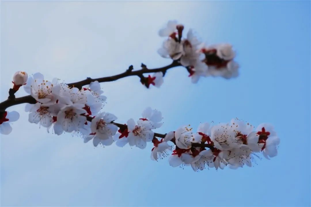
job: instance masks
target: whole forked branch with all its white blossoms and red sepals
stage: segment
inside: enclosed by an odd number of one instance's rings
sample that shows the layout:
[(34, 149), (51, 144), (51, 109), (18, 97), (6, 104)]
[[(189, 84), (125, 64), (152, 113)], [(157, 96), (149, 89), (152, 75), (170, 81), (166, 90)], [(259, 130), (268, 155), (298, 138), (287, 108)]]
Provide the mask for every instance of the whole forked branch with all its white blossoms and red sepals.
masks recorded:
[[(238, 75), (239, 65), (233, 60), (235, 52), (230, 44), (205, 46), (192, 29), (189, 29), (184, 38), (183, 29), (184, 26), (177, 21), (169, 21), (159, 31), (159, 35), (167, 39), (158, 53), (172, 59), (171, 65), (149, 70), (142, 64), (142, 70), (137, 71), (132, 71), (131, 65), (122, 74), (97, 80), (104, 82), (103, 79), (111, 81), (137, 75), (147, 88), (150, 85), (160, 87), (166, 70), (180, 65), (188, 70), (193, 83), (201, 76), (230, 79)], [(155, 73), (143, 76), (144, 73), (151, 72)], [(106, 97), (102, 95), (100, 83), (94, 79), (88, 78), (69, 86), (56, 78), (48, 81), (41, 73), (28, 76), (26, 72), (17, 71), (12, 82), (14, 85), (9, 90), (9, 99), (4, 102), (13, 101), (11, 106), (15, 105), (15, 93), (23, 86), (30, 94), (26, 98), (31, 98), (23, 102), (27, 103), (25, 110), (29, 112), (30, 123), (45, 127), (48, 133), (52, 128), (52, 133), (57, 135), (64, 132), (79, 133), (85, 143), (92, 140), (95, 147), (109, 146), (115, 142), (120, 147), (129, 145), (144, 149), (147, 142), (151, 142), (151, 160), (157, 161), (170, 155), (169, 165), (191, 165), (194, 171), (206, 167), (224, 169), (229, 166), (237, 169), (244, 165), (252, 166), (254, 158), (259, 157), (259, 152), (267, 159), (277, 155), (280, 139), (270, 124), (260, 124), (254, 130), (250, 124), (232, 119), (229, 123), (213, 126), (202, 123), (197, 132), (186, 125), (176, 131), (159, 134), (153, 130), (162, 126), (162, 114), (151, 107), (147, 107), (137, 121), (129, 119), (126, 124), (116, 123), (115, 115), (102, 111)], [(83, 88), (86, 84), (89, 85)], [(4, 110), (2, 108), (0, 111), (1, 134), (11, 133), (10, 123), (19, 118), (18, 112), (5, 111), (7, 107), (4, 104)]]

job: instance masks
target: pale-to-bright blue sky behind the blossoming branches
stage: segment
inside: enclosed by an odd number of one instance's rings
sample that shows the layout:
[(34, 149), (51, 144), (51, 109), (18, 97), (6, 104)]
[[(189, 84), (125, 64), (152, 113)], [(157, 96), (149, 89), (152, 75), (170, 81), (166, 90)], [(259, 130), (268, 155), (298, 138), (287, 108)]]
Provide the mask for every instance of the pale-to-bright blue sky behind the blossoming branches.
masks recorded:
[[(17, 70), (75, 82), (171, 61), (156, 50), (170, 19), (206, 43), (232, 43), (236, 79), (200, 79), (168, 71), (160, 89), (138, 77), (102, 83), (104, 111), (125, 123), (151, 106), (166, 133), (183, 124), (239, 117), (268, 122), (279, 155), (238, 170), (172, 168), (151, 161), (152, 144), (94, 148), (71, 134), (30, 124), (24, 105), (13, 132), (1, 135), (1, 206), (309, 206), (310, 2), (7, 2), (1, 1), (1, 101)], [(20, 90), (17, 97), (26, 93)]]

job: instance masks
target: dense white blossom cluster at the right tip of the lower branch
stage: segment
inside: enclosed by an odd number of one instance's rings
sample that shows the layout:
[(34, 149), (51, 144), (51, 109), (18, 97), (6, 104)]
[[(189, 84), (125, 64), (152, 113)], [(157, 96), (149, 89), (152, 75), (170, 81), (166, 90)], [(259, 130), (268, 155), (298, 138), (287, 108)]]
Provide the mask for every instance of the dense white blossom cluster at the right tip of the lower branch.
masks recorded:
[[(277, 155), (280, 139), (270, 124), (260, 124), (255, 131), (253, 126), (238, 119), (230, 123), (211, 126), (200, 124), (197, 133), (183, 126), (175, 131), (176, 149), (169, 158), (169, 164), (177, 167), (191, 165), (194, 171), (209, 168), (232, 169), (252, 166), (254, 156), (261, 152), (269, 159)], [(206, 149), (209, 148), (209, 149)]]

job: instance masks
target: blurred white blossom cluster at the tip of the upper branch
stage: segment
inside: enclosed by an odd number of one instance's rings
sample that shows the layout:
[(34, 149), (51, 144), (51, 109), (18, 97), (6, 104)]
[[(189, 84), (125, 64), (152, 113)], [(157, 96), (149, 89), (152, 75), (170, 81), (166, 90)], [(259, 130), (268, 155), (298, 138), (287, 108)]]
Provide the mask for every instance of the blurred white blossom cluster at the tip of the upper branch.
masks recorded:
[(183, 38), (182, 24), (171, 20), (160, 29), (159, 35), (166, 37), (158, 53), (165, 58), (179, 61), (189, 72), (193, 83), (207, 76), (221, 76), (226, 79), (238, 76), (239, 65), (233, 61), (235, 52), (230, 44), (205, 46), (192, 29)]

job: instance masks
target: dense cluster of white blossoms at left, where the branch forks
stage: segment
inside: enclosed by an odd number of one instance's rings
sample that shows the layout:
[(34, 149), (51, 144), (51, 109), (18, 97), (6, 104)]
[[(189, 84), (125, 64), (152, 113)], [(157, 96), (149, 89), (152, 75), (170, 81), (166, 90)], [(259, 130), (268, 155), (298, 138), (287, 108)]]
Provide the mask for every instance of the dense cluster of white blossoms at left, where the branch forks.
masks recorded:
[[(45, 80), (42, 74), (36, 73), (28, 78), (24, 89), (37, 101), (36, 104), (26, 104), (25, 110), (30, 112), (29, 122), (39, 123), (40, 126), (46, 127), (48, 132), (53, 127), (57, 135), (63, 132), (79, 132), (90, 140), (89, 135), (96, 134), (96, 126), (93, 122), (88, 123), (87, 117), (96, 116), (95, 121), (105, 118), (109, 119), (109, 122), (116, 119), (114, 115), (98, 114), (106, 100), (98, 81), (91, 82), (88, 88), (79, 90), (59, 83), (58, 79), (50, 82)], [(99, 134), (100, 132), (95, 135), (94, 145), (103, 138)]]

